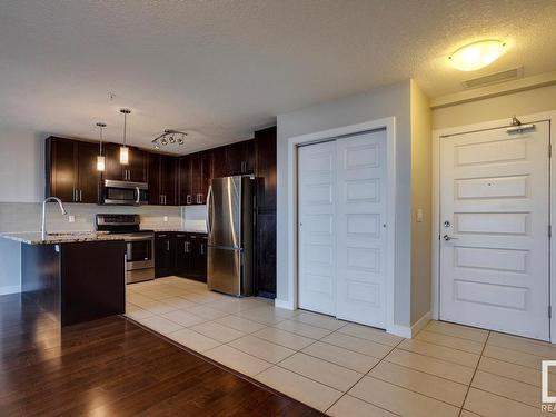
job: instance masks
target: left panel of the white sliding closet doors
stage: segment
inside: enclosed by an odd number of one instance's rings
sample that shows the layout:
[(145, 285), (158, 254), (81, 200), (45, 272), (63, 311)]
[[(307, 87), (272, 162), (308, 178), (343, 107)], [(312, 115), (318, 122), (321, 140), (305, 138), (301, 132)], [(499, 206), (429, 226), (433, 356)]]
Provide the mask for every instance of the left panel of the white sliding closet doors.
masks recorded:
[(298, 149), (299, 307), (336, 314), (336, 143)]

